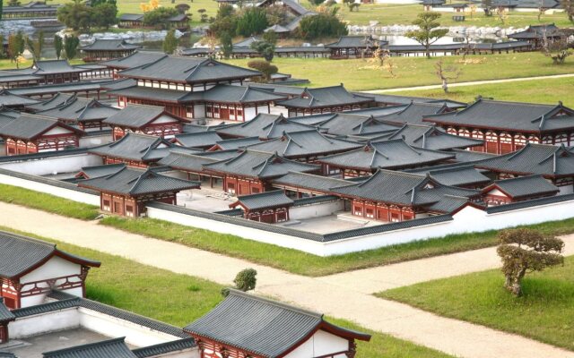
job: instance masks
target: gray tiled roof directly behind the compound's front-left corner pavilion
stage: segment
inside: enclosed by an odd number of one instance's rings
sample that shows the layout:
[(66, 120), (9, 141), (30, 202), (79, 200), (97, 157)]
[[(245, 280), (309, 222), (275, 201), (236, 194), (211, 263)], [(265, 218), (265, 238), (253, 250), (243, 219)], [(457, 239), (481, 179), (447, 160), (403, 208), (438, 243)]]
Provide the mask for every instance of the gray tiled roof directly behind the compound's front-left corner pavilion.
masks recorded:
[[(1, 129), (0, 129), (1, 132)], [(106, 146), (100, 146), (89, 150), (90, 153), (105, 157), (126, 158), (138, 161), (159, 160), (169, 154), (173, 145), (152, 135), (128, 133), (119, 141), (114, 141)]]

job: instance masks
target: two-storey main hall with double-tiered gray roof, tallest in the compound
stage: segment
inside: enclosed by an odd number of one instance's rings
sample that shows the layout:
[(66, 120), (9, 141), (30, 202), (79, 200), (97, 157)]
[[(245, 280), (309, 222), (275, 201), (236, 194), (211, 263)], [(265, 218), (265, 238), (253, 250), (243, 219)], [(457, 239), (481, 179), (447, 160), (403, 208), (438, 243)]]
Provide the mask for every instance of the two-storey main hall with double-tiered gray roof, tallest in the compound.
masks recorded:
[(117, 97), (119, 107), (128, 103), (161, 106), (184, 118), (243, 122), (259, 113), (269, 113), (272, 103), (285, 99), (243, 86), (261, 72), (212, 59), (162, 56), (117, 75), (135, 80), (129, 87), (109, 91)]

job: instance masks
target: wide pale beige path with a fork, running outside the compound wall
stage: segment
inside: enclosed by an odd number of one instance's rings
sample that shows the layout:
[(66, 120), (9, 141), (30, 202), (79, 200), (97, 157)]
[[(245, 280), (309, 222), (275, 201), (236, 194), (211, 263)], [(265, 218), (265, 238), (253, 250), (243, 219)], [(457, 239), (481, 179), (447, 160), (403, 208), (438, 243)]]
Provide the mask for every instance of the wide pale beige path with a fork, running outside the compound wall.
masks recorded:
[[(365, 275), (364, 279), (373, 284), (369, 289), (364, 285), (357, 286), (357, 280), (352, 279), (356, 273), (321, 278), (301, 277), (244, 260), (188, 248), (178, 243), (128, 234), (111, 227), (99, 226), (96, 222), (86, 223), (12, 204), (0, 203), (0, 213), (0, 226), (117, 254), (157, 268), (204, 277), (223, 285), (229, 285), (240, 269), (256, 268), (258, 294), (271, 295), (309, 310), (352, 320), (363, 327), (402, 337), (448, 354), (468, 358), (574, 358), (574, 353), (552, 345), (459, 320), (442, 318), (402, 303), (381, 300), (370, 295), (370, 291), (378, 291), (379, 288), (388, 286), (385, 280), (378, 280), (381, 275), (392, 277), (388, 280), (391, 282), (390, 286), (399, 286), (399, 282), (408, 285), (428, 278), (452, 276), (469, 269), (495, 267), (495, 260), (486, 259), (491, 249), (361, 270)], [(574, 241), (569, 238), (568, 243), (570, 250)], [(467, 260), (473, 261), (472, 268), (466, 268)], [(103, 264), (105, 265), (105, 262)], [(404, 281), (400, 281), (402, 273), (408, 275)], [(361, 276), (361, 281), (362, 279)]]

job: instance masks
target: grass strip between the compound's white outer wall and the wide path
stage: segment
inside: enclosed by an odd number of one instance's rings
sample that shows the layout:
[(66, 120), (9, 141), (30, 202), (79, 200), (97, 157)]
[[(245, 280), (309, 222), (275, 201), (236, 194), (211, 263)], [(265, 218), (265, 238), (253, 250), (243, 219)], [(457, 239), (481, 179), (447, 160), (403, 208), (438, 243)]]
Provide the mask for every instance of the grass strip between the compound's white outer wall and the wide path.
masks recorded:
[[(13, 202), (67, 217), (90, 219), (97, 215), (94, 207), (48, 194), (31, 192), (9, 185), (0, 186), (0, 201)], [(39, 200), (41, 198), (41, 200)], [(231, 234), (217, 234), (196, 227), (181, 226), (151, 218), (129, 219), (105, 217), (100, 225), (112, 226), (134, 234), (181, 243), (204, 251), (221, 253), (261, 265), (280, 268), (310, 277), (325, 276), (359, 268), (371, 268), (405, 260), (416, 260), (446, 253), (468, 251), (492, 246), (496, 232), (453, 234), (442, 238), (387, 246), (329, 257), (318, 257), (303, 251), (259, 243)], [(574, 233), (574, 218), (552, 221), (534, 227), (547, 234)]]

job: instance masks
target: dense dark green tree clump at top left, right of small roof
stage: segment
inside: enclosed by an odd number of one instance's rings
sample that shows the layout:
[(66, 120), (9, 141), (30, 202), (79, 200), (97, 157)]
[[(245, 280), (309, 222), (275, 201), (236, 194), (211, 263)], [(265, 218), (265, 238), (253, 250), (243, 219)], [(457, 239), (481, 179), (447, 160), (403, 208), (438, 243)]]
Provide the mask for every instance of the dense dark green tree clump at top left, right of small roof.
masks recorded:
[(90, 5), (74, 0), (57, 10), (57, 20), (74, 31), (109, 29), (117, 22), (116, 0), (92, 0)]

